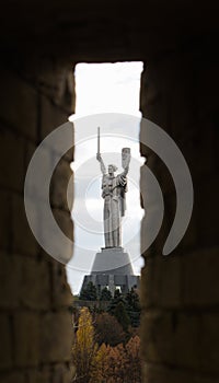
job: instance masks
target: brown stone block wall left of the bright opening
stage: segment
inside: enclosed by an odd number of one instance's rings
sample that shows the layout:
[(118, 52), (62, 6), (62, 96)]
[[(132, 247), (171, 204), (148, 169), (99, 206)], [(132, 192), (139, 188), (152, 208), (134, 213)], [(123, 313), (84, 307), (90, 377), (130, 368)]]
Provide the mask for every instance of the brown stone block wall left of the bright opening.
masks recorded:
[[(65, 267), (43, 252), (28, 228), (23, 186), (37, 144), (73, 112), (72, 71), (54, 62), (35, 67), (26, 62), (22, 70), (1, 63), (0, 381), (4, 383), (70, 381), (72, 297)], [(48, 161), (50, 155), (48, 150)], [(73, 229), (64, 195), (72, 155), (69, 152), (60, 161), (51, 194), (55, 214), (68, 223), (69, 232)], [(64, 255), (69, 257), (71, 251), (64, 248)]]

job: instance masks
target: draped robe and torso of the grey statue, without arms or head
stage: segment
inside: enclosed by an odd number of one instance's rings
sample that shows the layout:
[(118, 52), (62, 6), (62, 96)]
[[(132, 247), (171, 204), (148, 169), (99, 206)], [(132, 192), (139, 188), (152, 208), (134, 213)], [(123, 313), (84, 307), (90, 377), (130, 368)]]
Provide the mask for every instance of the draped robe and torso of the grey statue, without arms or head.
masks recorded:
[(120, 218), (125, 214), (125, 193), (127, 192), (127, 179), (124, 173), (117, 176), (103, 175), (105, 247), (118, 247), (122, 244)]

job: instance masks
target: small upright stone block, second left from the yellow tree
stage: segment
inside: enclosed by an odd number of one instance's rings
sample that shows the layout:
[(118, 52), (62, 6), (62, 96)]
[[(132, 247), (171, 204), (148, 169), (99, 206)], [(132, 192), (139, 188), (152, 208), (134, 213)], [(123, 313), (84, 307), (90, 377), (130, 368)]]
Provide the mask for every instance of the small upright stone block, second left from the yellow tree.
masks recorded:
[(15, 365), (34, 367), (39, 362), (39, 321), (36, 313), (14, 314), (14, 355)]

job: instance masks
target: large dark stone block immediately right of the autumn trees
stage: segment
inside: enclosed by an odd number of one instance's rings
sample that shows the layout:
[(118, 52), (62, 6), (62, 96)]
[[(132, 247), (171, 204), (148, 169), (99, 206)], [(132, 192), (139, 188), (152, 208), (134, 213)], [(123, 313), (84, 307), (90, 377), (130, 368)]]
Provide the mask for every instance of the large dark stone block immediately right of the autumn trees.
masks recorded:
[(141, 353), (149, 362), (178, 368), (200, 367), (198, 315), (159, 312), (141, 317)]

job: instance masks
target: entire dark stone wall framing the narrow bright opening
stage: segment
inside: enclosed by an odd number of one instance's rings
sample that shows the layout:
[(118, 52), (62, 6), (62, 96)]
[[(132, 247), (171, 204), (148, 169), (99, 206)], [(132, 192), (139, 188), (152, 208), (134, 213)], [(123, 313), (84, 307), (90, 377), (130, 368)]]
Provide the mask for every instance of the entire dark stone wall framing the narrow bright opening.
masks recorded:
[[(10, 1), (2, 10), (2, 382), (70, 381), (71, 294), (64, 267), (47, 257), (31, 234), (23, 182), (37, 144), (73, 112), (71, 62), (80, 60), (145, 61), (143, 116), (173, 137), (194, 182), (191, 225), (164, 260), (160, 254), (174, 214), (174, 188), (159, 159), (141, 148), (162, 185), (166, 208), (142, 270), (143, 382), (218, 381), (217, 14), (216, 2), (187, 1)], [(55, 214), (69, 233), (72, 223), (62, 196), (71, 160), (72, 154), (62, 159), (53, 193)], [(142, 175), (142, 194), (145, 182)]]

